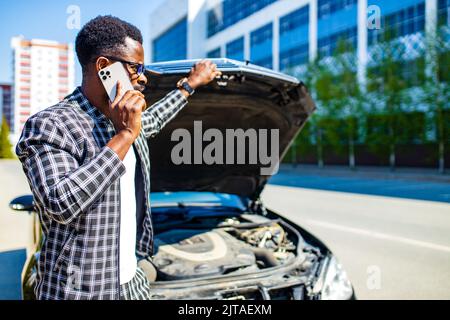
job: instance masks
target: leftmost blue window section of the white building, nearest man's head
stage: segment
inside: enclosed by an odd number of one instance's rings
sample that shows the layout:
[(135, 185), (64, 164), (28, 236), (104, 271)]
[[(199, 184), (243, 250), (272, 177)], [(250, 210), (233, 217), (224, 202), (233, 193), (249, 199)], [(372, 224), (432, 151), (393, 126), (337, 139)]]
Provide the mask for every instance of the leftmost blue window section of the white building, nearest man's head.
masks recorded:
[(153, 41), (153, 61), (186, 59), (187, 19), (183, 18)]

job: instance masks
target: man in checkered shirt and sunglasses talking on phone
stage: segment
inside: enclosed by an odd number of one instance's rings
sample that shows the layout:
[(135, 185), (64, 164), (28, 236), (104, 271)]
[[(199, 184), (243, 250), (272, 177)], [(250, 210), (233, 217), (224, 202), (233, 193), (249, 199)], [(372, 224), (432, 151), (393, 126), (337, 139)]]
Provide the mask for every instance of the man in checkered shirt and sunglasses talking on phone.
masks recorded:
[[(142, 35), (112, 16), (76, 38), (81, 87), (32, 116), (16, 148), (44, 233), (38, 299), (147, 299), (138, 261), (153, 254), (147, 139), (220, 75), (202, 60), (174, 90), (146, 108)], [(99, 70), (121, 62), (135, 90), (110, 102)], [(183, 82), (185, 82), (183, 84)], [(177, 87), (178, 86), (178, 87)]]

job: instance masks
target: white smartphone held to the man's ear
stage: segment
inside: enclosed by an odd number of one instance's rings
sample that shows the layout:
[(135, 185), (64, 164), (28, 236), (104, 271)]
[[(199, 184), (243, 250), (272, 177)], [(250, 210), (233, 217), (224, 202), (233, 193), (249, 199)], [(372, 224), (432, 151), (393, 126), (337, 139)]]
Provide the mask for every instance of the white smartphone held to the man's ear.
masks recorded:
[(122, 94), (125, 94), (128, 90), (134, 90), (128, 76), (128, 71), (121, 62), (115, 62), (98, 72), (98, 76), (105, 87), (106, 93), (109, 96), (109, 100), (114, 101), (117, 95), (117, 82), (120, 81), (122, 85)]

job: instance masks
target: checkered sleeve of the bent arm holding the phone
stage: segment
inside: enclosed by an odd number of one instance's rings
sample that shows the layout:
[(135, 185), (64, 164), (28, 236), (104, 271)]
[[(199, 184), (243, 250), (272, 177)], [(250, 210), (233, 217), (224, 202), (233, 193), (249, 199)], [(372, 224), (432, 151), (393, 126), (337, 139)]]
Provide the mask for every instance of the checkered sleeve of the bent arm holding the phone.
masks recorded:
[(61, 224), (85, 212), (125, 173), (122, 161), (108, 146), (79, 166), (80, 149), (67, 132), (54, 117), (33, 117), (17, 145), (34, 196), (49, 218)]

